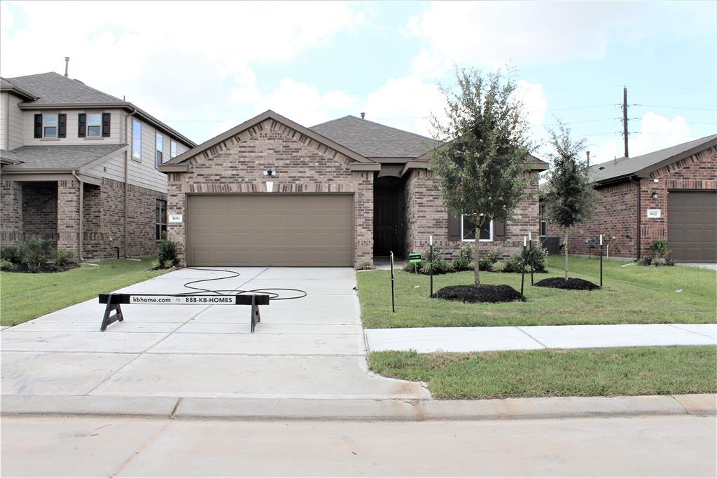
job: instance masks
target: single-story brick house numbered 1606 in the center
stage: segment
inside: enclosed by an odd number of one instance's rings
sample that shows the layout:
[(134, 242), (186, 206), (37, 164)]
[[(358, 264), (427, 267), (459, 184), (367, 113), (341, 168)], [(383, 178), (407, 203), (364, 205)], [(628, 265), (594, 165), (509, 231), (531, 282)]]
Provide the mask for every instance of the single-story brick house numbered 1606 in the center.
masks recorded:
[[(170, 237), (189, 266), (353, 266), (475, 240), (450, 215), (428, 169), (434, 142), (346, 116), (312, 128), (266, 111), (186, 151), (168, 174)], [(508, 254), (538, 234), (538, 172), (513, 220), (480, 232)]]

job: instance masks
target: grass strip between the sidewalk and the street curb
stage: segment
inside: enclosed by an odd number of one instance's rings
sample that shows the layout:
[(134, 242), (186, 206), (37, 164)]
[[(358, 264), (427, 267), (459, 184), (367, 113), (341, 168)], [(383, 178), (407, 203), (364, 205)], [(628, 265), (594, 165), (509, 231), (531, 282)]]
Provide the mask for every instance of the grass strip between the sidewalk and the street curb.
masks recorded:
[(717, 347), (444, 353), (371, 352), (369, 367), (428, 383), (434, 398), (717, 392)]

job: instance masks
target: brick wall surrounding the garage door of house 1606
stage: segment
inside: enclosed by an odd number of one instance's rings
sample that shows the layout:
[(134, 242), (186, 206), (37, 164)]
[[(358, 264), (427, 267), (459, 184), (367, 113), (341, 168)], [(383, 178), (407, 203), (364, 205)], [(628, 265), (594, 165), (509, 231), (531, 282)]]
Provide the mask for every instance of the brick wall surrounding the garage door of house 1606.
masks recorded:
[[(374, 247), (374, 174), (351, 172), (338, 151), (267, 119), (194, 156), (189, 172), (169, 173), (168, 213), (186, 218), (186, 194), (266, 192), (262, 172), (274, 169), (274, 192), (353, 192), (356, 263), (371, 261)], [(186, 219), (185, 219), (186, 220)], [(185, 222), (168, 224), (184, 261)]]

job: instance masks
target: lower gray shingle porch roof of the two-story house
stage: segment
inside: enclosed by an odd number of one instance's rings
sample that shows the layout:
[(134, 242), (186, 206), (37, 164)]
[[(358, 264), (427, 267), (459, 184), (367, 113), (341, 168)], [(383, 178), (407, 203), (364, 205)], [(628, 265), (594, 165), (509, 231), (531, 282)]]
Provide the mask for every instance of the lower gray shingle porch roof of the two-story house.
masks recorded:
[(77, 169), (124, 147), (124, 144), (21, 146), (12, 151), (3, 149), (0, 156), (11, 161), (22, 161), (22, 164), (16, 164), (13, 168)]

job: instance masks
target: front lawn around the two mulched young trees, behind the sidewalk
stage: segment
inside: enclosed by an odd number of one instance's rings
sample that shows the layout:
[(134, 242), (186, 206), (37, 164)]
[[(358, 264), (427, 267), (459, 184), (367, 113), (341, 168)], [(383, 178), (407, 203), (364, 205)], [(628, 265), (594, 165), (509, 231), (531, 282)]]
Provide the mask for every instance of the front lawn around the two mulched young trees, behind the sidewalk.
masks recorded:
[[(549, 273), (562, 276), (560, 256), (548, 258)], [(361, 318), (366, 328), (461, 327), (490, 325), (713, 323), (717, 321), (717, 274), (692, 267), (621, 267), (604, 261), (602, 291), (565, 291), (530, 285), (526, 302), (464, 304), (429, 299), (429, 278), (396, 271), (396, 314), (391, 314), (389, 271), (357, 274)], [(599, 283), (596, 258), (571, 257), (569, 276)], [(481, 281), (521, 290), (518, 273), (480, 273)], [(473, 272), (434, 277), (434, 291), (443, 286), (473, 283)], [(680, 292), (678, 292), (678, 290)]]

